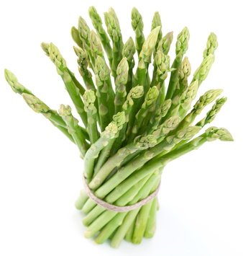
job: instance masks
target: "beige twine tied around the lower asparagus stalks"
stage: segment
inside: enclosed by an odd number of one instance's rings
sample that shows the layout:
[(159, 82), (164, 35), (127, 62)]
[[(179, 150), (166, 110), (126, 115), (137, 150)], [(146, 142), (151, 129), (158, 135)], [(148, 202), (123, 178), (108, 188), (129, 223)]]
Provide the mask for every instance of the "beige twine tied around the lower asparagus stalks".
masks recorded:
[(146, 203), (150, 202), (150, 200), (154, 199), (160, 190), (160, 184), (159, 184), (154, 193), (150, 194), (147, 198), (140, 200), (138, 203), (134, 203), (132, 206), (114, 206), (111, 203), (107, 203), (104, 200), (101, 200), (101, 198), (97, 198), (96, 195), (93, 194), (92, 190), (88, 187), (86, 178), (84, 176), (83, 176), (83, 185), (88, 197), (91, 198), (91, 200), (93, 200), (99, 206), (106, 208), (106, 210), (116, 211), (117, 213), (122, 213), (124, 211), (132, 211), (141, 206), (144, 206)]

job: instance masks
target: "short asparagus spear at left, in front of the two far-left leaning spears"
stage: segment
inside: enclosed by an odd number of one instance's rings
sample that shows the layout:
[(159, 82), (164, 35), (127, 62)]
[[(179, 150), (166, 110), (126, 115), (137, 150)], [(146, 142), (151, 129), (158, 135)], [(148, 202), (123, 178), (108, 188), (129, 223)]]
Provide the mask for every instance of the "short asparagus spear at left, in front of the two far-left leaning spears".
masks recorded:
[(60, 109), (58, 110), (59, 115), (63, 118), (63, 121), (67, 125), (68, 133), (70, 133), (70, 135), (73, 137), (75, 144), (78, 146), (78, 149), (81, 152), (81, 158), (83, 159), (89, 145), (87, 144), (81, 128), (78, 125), (78, 120), (73, 117), (71, 111), (72, 110), (68, 105), (60, 105)]

